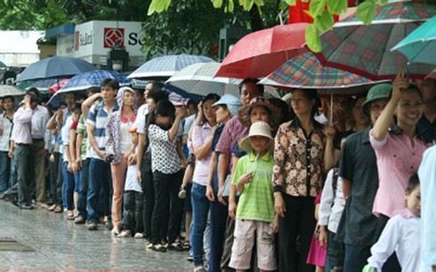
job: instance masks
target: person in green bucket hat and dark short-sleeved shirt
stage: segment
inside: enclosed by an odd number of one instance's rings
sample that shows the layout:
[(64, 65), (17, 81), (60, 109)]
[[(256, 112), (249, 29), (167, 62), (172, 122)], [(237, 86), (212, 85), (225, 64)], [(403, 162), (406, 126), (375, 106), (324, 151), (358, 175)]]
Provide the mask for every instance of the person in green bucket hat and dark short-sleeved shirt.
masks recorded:
[[(372, 125), (388, 103), (391, 91), (391, 84), (376, 84), (367, 92), (362, 110), (370, 117)], [(338, 174), (342, 180), (345, 207), (335, 240), (344, 244), (343, 271), (361, 271), (376, 241), (377, 218), (372, 209), (378, 188), (378, 170), (375, 151), (369, 142), (370, 129), (351, 134), (341, 149)]]

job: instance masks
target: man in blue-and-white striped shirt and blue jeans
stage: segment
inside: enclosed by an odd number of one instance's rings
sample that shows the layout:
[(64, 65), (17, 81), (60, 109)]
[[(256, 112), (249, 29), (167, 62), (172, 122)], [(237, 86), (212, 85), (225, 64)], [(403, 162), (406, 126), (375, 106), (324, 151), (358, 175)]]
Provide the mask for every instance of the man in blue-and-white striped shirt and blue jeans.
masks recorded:
[[(106, 157), (106, 124), (108, 123), (109, 113), (119, 109), (115, 97), (119, 89), (117, 80), (105, 78), (101, 82), (102, 101), (99, 105), (93, 105), (95, 97), (85, 100), (85, 108), (89, 109), (86, 124), (88, 125), (88, 140), (93, 148), (91, 151), (91, 162), (89, 164), (89, 189), (88, 189), (88, 225), (89, 230), (98, 228), (97, 223), (101, 217), (105, 217), (105, 228), (109, 228), (110, 214), (110, 188), (112, 185), (112, 176), (110, 174), (110, 165), (104, 161)], [(84, 108), (84, 107), (83, 107)], [(101, 195), (102, 191), (102, 195)], [(102, 201), (100, 197), (103, 197)], [(99, 203), (102, 202), (102, 211)]]

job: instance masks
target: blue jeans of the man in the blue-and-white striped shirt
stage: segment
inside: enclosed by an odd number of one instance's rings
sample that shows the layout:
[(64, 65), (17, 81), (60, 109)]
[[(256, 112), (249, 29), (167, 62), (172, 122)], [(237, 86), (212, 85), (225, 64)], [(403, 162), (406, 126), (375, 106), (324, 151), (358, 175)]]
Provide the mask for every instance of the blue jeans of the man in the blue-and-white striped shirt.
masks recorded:
[(96, 222), (101, 216), (109, 216), (110, 199), (112, 198), (110, 196), (111, 185), (110, 165), (103, 160), (91, 158), (89, 163), (88, 220)]

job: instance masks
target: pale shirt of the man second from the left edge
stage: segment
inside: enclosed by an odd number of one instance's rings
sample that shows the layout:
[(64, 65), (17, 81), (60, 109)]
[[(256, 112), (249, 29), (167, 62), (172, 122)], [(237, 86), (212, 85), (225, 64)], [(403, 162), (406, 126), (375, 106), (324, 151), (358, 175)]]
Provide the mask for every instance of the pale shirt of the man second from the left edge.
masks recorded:
[(32, 116), (30, 108), (20, 107), (13, 116), (13, 128), (11, 139), (17, 144), (32, 143)]

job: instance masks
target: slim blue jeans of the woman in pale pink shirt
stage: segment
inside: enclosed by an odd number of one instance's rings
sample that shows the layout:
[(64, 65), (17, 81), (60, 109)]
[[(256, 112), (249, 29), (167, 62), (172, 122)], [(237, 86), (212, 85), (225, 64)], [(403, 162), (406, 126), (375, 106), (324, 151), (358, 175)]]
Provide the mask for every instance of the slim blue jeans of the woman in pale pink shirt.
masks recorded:
[(194, 265), (203, 265), (203, 236), (209, 213), (209, 200), (206, 197), (206, 186), (199, 185), (194, 181), (190, 191), (192, 199), (192, 229), (190, 232), (190, 244), (194, 255)]

